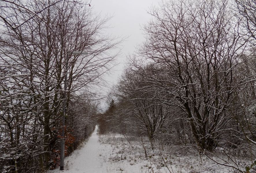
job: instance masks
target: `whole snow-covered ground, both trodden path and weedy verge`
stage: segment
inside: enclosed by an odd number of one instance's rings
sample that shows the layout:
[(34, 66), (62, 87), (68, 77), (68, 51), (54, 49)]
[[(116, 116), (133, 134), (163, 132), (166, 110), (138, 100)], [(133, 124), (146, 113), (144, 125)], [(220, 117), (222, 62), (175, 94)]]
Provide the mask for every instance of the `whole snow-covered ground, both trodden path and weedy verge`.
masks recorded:
[[(172, 148), (165, 152), (151, 150), (149, 142), (138, 138), (114, 135), (98, 135), (96, 126), (88, 142), (65, 158), (65, 170), (58, 173), (229, 173), (233, 168), (217, 165), (206, 156), (191, 153), (187, 148)], [(159, 148), (161, 148), (159, 146)]]

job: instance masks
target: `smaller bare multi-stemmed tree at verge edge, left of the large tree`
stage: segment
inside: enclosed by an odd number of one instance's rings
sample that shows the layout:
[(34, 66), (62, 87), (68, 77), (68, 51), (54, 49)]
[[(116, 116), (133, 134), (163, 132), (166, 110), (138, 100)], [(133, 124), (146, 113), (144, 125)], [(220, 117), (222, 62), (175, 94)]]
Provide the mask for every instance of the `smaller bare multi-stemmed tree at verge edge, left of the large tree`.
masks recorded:
[(118, 106), (122, 109), (118, 119), (136, 128), (142, 134), (146, 134), (152, 149), (157, 133), (168, 123), (172, 114), (171, 106), (159, 101), (159, 97), (162, 99), (163, 95), (149, 89), (151, 85), (148, 81), (151, 78), (148, 76), (154, 78), (158, 75), (157, 67), (153, 65), (146, 65), (139, 69), (128, 67), (116, 86)]

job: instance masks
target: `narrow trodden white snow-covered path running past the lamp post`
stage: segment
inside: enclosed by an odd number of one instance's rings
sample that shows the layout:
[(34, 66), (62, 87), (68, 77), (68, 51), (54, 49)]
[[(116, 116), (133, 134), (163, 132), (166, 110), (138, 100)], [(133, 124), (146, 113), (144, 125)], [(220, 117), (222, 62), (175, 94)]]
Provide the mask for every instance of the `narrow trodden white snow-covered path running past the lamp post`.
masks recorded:
[(106, 173), (108, 172), (107, 158), (110, 157), (111, 146), (101, 145), (97, 135), (98, 126), (85, 146), (75, 151), (64, 160), (64, 171), (59, 168), (51, 172), (63, 173)]

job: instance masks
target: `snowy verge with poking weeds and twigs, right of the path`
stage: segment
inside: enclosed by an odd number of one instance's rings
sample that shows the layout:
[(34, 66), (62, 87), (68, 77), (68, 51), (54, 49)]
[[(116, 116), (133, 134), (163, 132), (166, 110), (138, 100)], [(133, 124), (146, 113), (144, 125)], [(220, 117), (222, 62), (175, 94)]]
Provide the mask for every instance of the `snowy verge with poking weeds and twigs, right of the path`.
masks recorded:
[[(180, 146), (163, 146), (160, 144), (152, 150), (147, 138), (142, 139), (109, 133), (101, 135), (100, 142), (111, 144), (113, 151), (109, 162), (115, 163), (123, 172), (131, 173), (236, 173), (233, 168), (217, 165), (214, 161), (203, 155), (197, 155), (191, 148)], [(146, 148), (147, 158), (145, 158)], [(130, 165), (130, 166), (129, 166)]]

